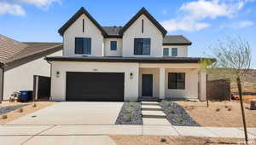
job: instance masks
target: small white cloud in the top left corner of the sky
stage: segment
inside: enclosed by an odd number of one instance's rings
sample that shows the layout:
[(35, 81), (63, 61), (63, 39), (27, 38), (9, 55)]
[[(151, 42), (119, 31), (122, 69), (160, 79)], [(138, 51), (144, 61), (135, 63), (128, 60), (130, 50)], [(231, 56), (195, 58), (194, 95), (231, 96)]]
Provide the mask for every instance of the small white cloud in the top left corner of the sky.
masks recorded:
[(26, 15), (19, 4), (0, 2), (0, 14)]

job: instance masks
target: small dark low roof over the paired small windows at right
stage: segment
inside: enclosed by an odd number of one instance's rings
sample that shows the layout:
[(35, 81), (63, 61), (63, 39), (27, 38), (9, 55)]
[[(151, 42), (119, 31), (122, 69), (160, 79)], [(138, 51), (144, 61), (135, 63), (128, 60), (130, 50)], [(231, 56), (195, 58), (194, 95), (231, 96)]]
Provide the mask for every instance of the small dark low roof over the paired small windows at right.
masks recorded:
[(163, 40), (163, 45), (191, 45), (192, 43), (183, 35), (167, 35)]

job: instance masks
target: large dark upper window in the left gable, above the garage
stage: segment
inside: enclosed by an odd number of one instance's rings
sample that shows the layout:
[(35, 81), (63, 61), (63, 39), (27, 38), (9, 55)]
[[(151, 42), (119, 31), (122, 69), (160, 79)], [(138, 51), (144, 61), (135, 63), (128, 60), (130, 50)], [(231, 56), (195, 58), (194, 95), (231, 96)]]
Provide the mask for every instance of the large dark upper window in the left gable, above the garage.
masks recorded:
[(75, 38), (75, 54), (91, 55), (91, 38)]

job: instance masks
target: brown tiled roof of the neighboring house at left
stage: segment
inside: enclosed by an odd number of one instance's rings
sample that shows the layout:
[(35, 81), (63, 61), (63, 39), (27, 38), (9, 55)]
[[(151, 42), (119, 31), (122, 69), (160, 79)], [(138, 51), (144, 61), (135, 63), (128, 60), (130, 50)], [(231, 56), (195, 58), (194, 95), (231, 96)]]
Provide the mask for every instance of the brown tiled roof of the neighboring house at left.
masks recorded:
[(16, 61), (35, 55), (39, 58), (61, 49), (63, 49), (62, 43), (21, 43), (0, 35), (0, 63), (4, 67)]

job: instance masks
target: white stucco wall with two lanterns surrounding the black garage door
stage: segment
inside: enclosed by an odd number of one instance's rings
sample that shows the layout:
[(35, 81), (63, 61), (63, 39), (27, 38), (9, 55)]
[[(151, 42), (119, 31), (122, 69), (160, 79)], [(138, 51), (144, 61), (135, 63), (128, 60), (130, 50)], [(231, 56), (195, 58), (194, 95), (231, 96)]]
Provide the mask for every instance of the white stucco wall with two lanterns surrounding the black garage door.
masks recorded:
[[(60, 72), (59, 78), (56, 72)], [(109, 62), (65, 62), (52, 63), (51, 97), (55, 101), (66, 100), (67, 72), (125, 73), (125, 101), (137, 101), (138, 97), (138, 64)], [(130, 78), (133, 73), (133, 78)]]

